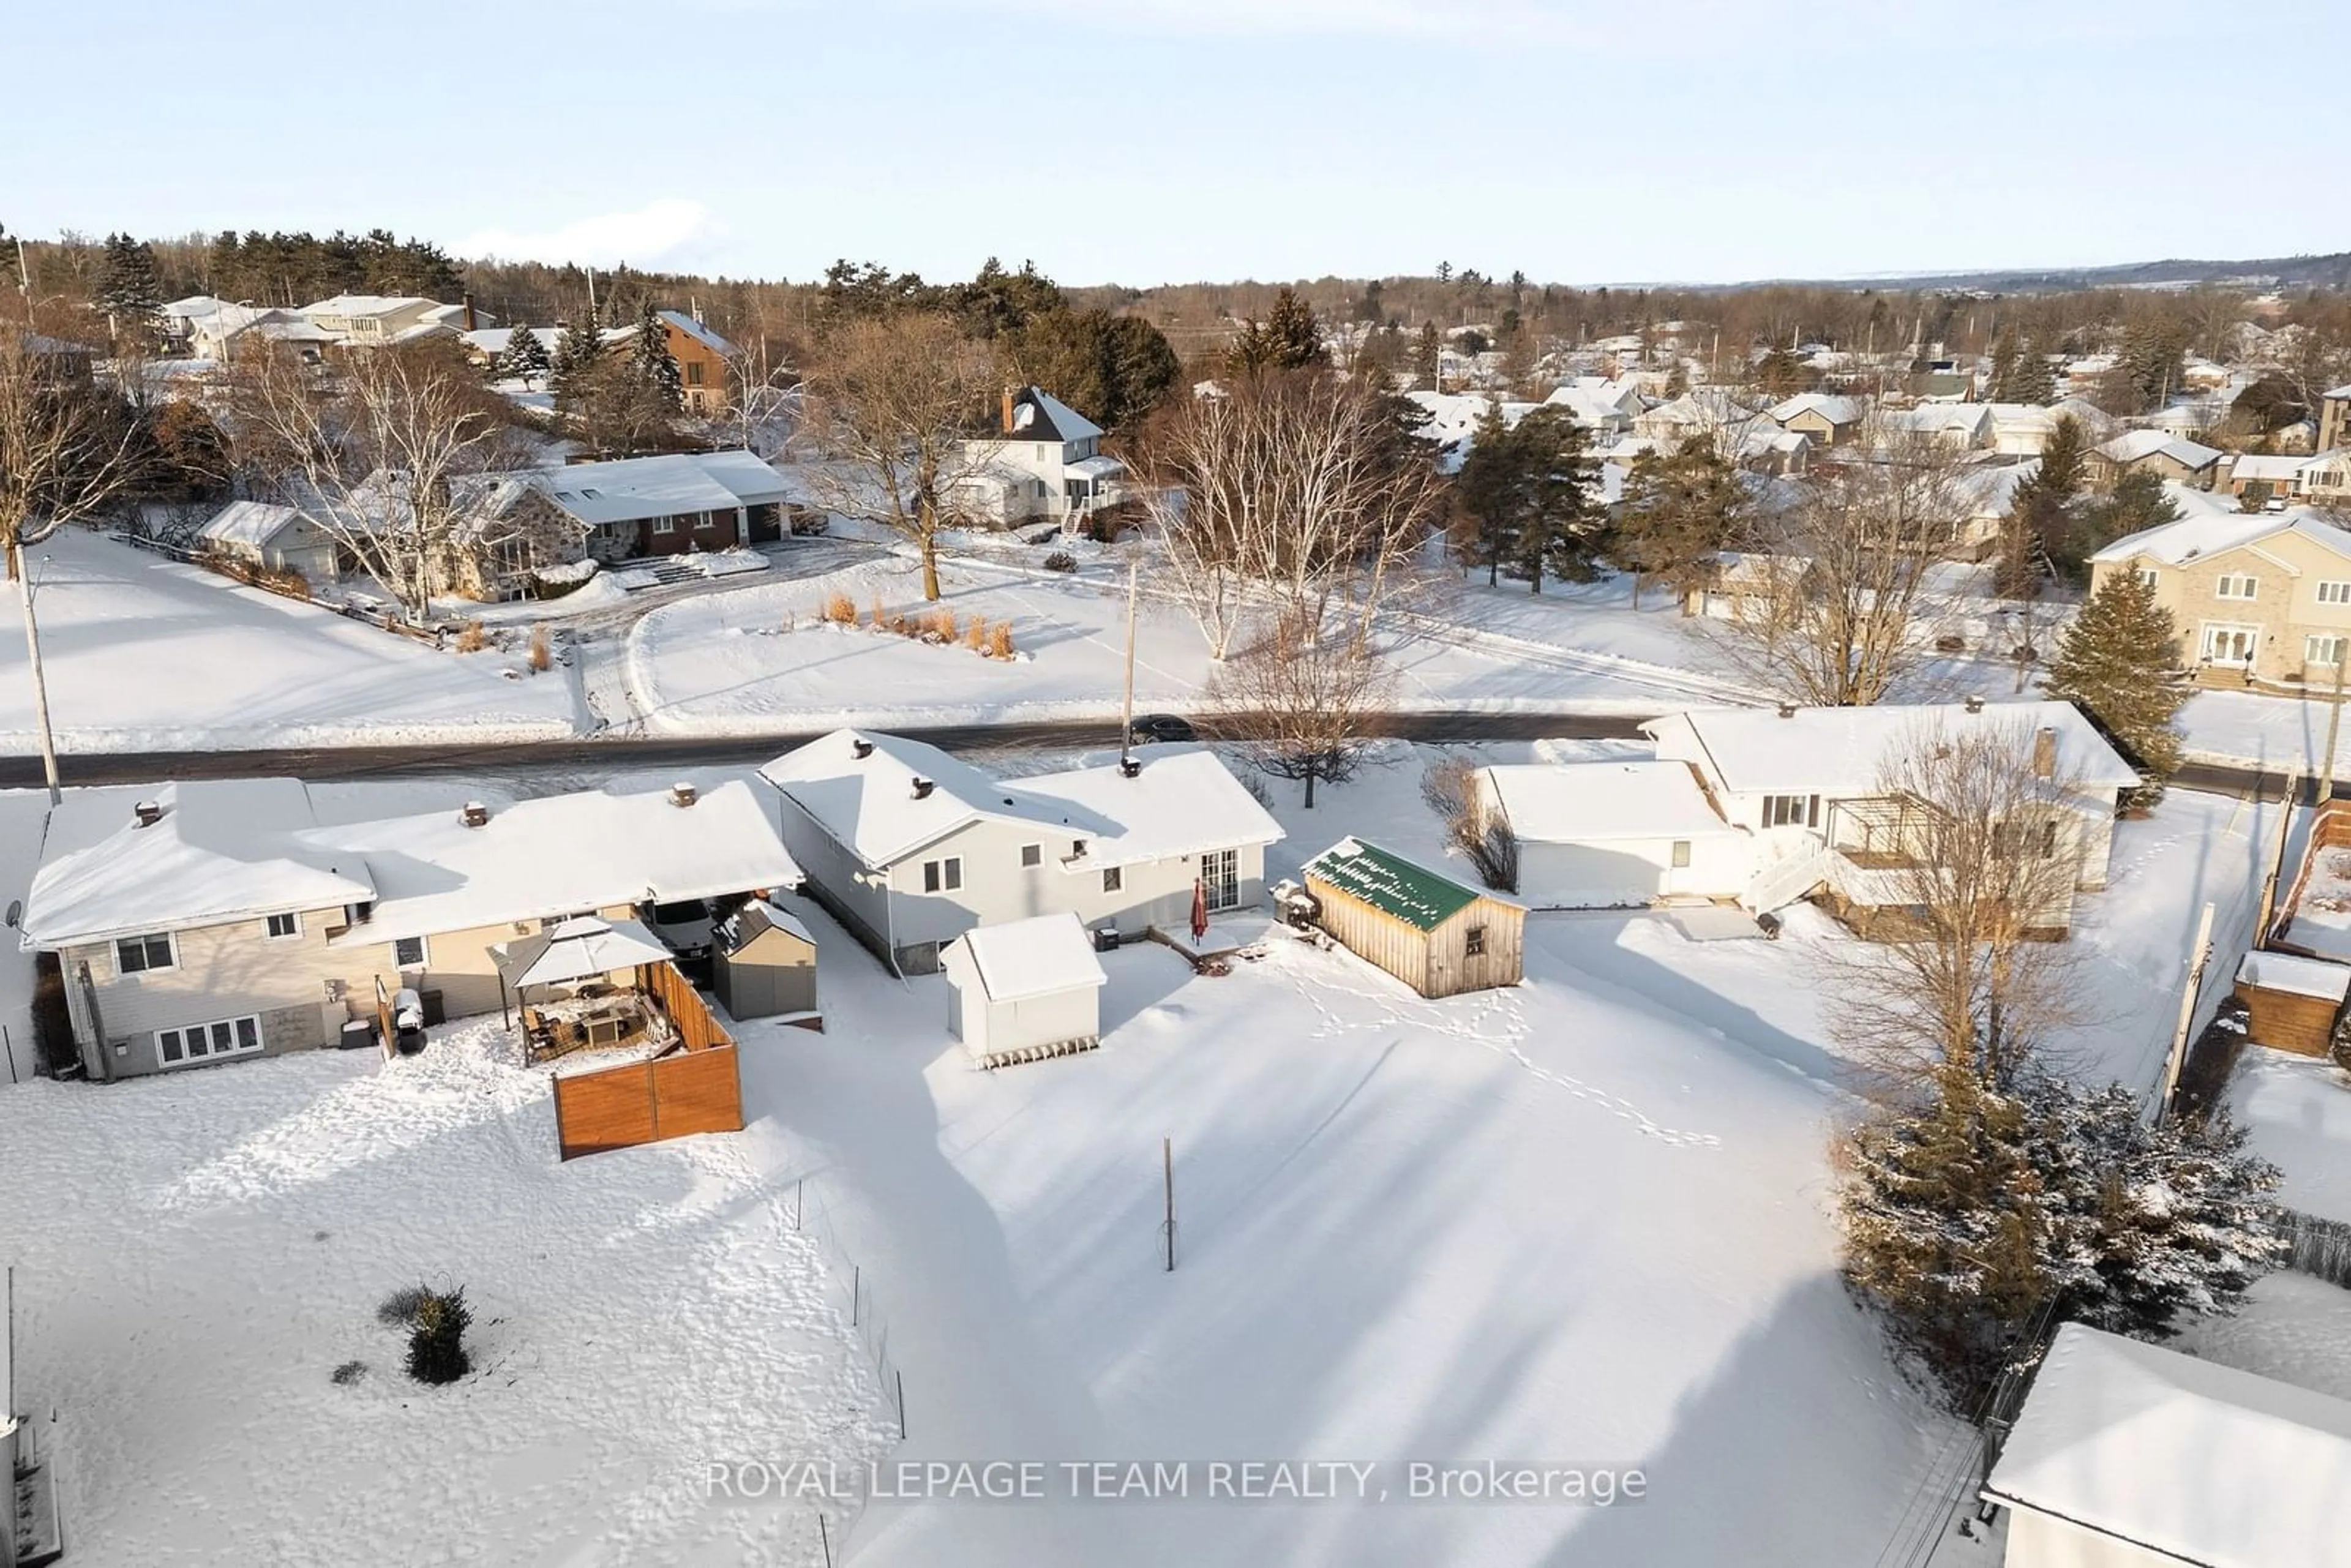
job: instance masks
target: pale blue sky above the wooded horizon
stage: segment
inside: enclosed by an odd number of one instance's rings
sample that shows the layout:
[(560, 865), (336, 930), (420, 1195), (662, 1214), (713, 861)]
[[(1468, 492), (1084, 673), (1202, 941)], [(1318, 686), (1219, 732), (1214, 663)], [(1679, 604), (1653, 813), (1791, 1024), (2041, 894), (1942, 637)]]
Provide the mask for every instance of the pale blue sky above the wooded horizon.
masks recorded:
[(19, 12), (0, 223), (35, 237), (381, 223), (458, 254), (764, 277), (997, 254), (1074, 284), (2351, 249), (2342, 0)]

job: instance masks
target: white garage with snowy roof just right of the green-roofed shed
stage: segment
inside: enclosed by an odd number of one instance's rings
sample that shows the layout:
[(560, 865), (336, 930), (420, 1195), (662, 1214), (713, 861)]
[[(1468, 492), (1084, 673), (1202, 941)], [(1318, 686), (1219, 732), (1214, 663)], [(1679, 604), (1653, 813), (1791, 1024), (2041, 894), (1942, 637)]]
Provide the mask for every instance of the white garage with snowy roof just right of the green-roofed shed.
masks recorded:
[(1538, 910), (1737, 898), (1756, 872), (1754, 835), (1683, 762), (1491, 766), (1479, 792), (1519, 842), (1519, 898)]

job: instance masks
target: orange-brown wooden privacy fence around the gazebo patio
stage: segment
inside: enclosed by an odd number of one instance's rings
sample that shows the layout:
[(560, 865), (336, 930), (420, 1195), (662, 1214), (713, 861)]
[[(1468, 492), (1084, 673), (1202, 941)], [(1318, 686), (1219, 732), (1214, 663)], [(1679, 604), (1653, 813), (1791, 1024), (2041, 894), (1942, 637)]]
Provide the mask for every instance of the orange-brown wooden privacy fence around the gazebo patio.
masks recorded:
[(743, 1072), (734, 1039), (677, 966), (649, 964), (642, 983), (677, 1025), (684, 1048), (557, 1077), (555, 1143), (564, 1159), (691, 1133), (743, 1131)]

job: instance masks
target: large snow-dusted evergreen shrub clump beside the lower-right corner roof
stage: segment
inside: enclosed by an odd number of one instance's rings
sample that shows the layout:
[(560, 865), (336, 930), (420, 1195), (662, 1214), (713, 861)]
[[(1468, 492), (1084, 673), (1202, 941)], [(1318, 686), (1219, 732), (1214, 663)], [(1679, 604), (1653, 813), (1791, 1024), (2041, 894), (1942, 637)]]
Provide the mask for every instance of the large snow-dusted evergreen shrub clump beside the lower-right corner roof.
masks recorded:
[(2144, 1126), (2118, 1084), (1947, 1067), (1846, 1135), (1846, 1281), (1972, 1413), (2062, 1321), (2154, 1340), (2231, 1312), (2283, 1262), (2276, 1185), (2226, 1117)]

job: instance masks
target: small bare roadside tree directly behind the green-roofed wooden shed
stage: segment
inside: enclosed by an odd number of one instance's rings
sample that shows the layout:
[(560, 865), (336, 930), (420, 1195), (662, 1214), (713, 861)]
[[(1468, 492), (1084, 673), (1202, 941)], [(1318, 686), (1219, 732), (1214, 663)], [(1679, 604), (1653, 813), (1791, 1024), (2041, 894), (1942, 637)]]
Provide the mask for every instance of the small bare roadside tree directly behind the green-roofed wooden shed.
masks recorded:
[(1361, 628), (1284, 611), (1208, 679), (1215, 729), (1274, 778), (1342, 783), (1361, 762), (1389, 670)]

